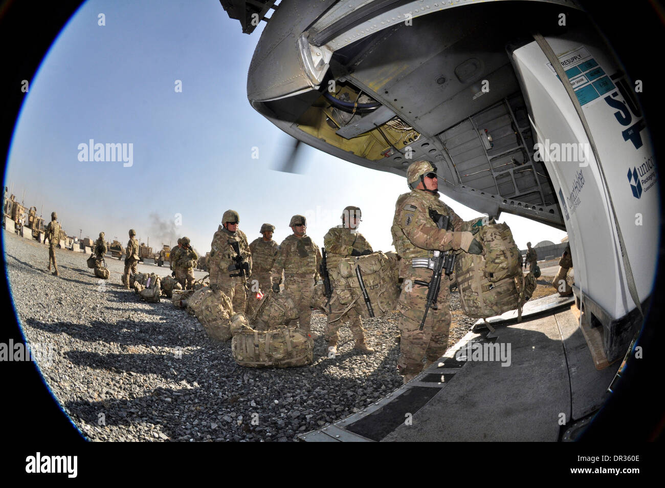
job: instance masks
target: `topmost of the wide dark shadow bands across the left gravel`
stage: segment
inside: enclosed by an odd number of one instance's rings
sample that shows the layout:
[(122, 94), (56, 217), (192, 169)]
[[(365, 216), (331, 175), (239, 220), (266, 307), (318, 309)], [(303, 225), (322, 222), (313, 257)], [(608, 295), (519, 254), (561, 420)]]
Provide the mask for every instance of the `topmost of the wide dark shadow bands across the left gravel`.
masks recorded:
[[(199, 345), (207, 342), (203, 327), (196, 319), (194, 322), (179, 324), (178, 330), (173, 330), (172, 321), (162, 322), (135, 322), (134, 320), (118, 320), (108, 322), (93, 321), (89, 324), (75, 324), (72, 322), (42, 322), (33, 318), (23, 320), (25, 326), (51, 333), (63, 333), (72, 338), (86, 342), (116, 342), (124, 346), (164, 346), (178, 347)], [(122, 332), (126, 329), (127, 332)], [(177, 336), (176, 336), (177, 334)], [(169, 336), (169, 337), (166, 337)]]

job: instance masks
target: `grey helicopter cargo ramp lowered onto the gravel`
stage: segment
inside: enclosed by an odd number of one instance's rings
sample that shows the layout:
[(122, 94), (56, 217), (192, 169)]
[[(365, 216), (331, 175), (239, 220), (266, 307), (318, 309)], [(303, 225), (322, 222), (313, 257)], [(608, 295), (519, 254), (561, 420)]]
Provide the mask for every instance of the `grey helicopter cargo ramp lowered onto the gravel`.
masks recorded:
[[(366, 409), (301, 441), (559, 441), (606, 399), (619, 362), (597, 369), (572, 297), (543, 297), (474, 326), (442, 358)], [(565, 438), (565, 437), (564, 437)]]

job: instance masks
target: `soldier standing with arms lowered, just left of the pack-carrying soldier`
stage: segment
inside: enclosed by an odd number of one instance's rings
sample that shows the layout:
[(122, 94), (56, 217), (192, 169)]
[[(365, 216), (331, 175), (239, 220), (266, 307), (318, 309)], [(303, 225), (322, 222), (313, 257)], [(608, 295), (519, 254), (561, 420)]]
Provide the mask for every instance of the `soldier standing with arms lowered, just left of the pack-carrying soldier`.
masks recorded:
[(311, 237), (305, 235), (307, 222), (302, 215), (291, 217), (289, 227), (293, 234), (279, 244), (277, 260), (270, 272), (273, 291), (279, 293), (279, 284), (284, 271), (284, 292), (291, 297), (299, 312), (299, 328), (310, 334), (312, 318), (312, 297), (319, 277), (321, 250)]

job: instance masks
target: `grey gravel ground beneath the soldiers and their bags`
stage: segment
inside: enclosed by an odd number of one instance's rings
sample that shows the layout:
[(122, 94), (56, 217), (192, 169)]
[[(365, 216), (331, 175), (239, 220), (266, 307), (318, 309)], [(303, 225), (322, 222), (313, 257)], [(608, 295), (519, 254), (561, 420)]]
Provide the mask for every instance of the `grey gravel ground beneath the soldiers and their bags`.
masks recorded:
[[(87, 255), (56, 250), (60, 277), (49, 274), (46, 246), (5, 233), (11, 292), (31, 344), (50, 344), (39, 362), (45, 380), (82, 433), (94, 441), (293, 441), (346, 417), (402, 384), (396, 371), (397, 313), (364, 320), (375, 354), (352, 350), (340, 329), (336, 358), (315, 342), (313, 364), (240, 367), (230, 341), (210, 340), (196, 318), (162, 297), (142, 302), (120, 284), (123, 262), (106, 259), (105, 282)], [(160, 276), (168, 268), (140, 265)], [(205, 274), (196, 272), (197, 278)], [(455, 344), (475, 322), (450, 295)], [(323, 336), (325, 315), (313, 314)]]

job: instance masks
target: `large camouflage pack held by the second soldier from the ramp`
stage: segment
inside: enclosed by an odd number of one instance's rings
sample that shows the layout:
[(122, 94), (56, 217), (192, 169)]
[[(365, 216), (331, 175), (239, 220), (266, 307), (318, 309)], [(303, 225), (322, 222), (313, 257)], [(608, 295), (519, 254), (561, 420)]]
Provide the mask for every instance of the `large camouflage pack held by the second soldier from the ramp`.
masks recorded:
[[(400, 297), (396, 265), (395, 256), (386, 256), (380, 251), (368, 256), (340, 260), (337, 265), (339, 278), (332, 283), (333, 300), (331, 303), (339, 302), (341, 306), (350, 308), (350, 304), (354, 302), (360, 316), (370, 318), (370, 312), (360, 288), (360, 278), (356, 271), (359, 269), (374, 317), (389, 314), (395, 310)], [(340, 306), (333, 306), (333, 312), (342, 313), (343, 310), (340, 310)]]

